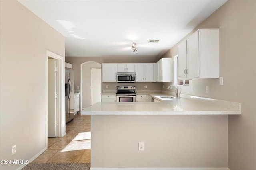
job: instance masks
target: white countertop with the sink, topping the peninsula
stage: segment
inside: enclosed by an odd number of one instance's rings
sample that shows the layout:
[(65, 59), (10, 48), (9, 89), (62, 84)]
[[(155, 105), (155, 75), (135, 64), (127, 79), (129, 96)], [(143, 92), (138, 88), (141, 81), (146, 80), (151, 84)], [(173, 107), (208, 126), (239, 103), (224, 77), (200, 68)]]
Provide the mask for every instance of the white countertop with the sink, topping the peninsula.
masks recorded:
[[(152, 93), (158, 96), (169, 94)], [(98, 102), (86, 109), (83, 115), (240, 115), (241, 104), (180, 94), (179, 98), (164, 99), (162, 102)]]

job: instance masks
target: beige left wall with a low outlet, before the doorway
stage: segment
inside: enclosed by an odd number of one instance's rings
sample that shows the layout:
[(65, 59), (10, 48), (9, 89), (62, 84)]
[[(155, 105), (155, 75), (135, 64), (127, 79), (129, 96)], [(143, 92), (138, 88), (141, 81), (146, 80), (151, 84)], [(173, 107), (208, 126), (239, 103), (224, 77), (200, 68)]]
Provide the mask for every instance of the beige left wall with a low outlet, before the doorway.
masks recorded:
[(0, 1), (0, 35), (0, 158), (31, 160), (46, 148), (46, 50), (64, 57), (65, 39), (16, 0)]

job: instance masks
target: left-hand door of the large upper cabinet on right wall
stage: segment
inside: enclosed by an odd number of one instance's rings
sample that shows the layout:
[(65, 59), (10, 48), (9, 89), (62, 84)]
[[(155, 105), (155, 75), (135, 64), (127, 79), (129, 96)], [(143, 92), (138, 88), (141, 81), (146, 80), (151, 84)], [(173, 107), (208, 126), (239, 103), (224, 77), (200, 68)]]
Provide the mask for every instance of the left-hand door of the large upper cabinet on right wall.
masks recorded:
[(178, 45), (178, 79), (186, 79), (186, 53), (187, 41), (183, 41)]

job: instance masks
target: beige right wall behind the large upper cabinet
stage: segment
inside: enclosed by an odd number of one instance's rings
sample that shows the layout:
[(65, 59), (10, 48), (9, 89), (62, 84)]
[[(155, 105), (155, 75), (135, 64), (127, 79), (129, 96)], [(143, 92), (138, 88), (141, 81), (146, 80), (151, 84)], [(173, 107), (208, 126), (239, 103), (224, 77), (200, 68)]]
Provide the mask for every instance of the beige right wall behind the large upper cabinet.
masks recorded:
[[(220, 29), (224, 85), (219, 85), (219, 79), (193, 80), (180, 92), (242, 103), (242, 115), (228, 116), (228, 165), (230, 170), (255, 170), (256, 1), (229, 0), (194, 31), (199, 28)], [(178, 53), (177, 46), (170, 50), (172, 56)], [(209, 86), (209, 93), (205, 93), (205, 86)]]

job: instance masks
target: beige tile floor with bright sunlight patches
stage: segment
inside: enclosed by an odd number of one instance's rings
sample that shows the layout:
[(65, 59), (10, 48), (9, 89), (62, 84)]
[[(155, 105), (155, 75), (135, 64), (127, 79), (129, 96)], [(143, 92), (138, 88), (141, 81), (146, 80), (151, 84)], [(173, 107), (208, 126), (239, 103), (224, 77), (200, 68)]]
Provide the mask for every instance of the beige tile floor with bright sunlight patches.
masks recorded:
[(44, 163), (90, 163), (91, 117), (76, 114), (66, 124), (64, 137), (48, 138), (48, 149), (33, 162)]

